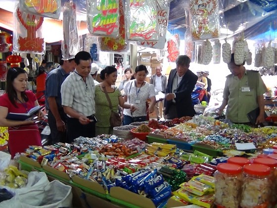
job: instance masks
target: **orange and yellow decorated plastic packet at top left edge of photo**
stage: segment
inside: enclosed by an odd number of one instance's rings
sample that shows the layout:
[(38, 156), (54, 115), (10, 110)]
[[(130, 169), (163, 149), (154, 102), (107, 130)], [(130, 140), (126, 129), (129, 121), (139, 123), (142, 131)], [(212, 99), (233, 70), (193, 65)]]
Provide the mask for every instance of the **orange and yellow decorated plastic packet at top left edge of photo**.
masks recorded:
[(21, 11), (53, 19), (60, 17), (61, 0), (20, 0)]

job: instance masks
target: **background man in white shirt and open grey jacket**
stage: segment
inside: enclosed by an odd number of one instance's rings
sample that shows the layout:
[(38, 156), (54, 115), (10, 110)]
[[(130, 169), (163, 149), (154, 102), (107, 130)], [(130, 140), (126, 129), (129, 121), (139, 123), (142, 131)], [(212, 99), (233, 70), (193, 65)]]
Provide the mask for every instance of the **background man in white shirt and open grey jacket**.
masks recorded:
[[(162, 74), (161, 66), (156, 67), (156, 73), (151, 76), (150, 83), (154, 85), (156, 95), (159, 92), (165, 93), (166, 85), (167, 85), (167, 77), (164, 74)], [(161, 102), (158, 101), (156, 103), (155, 111), (156, 111), (157, 119), (160, 119), (161, 117), (163, 117), (163, 107), (164, 107), (164, 101), (161, 101)]]

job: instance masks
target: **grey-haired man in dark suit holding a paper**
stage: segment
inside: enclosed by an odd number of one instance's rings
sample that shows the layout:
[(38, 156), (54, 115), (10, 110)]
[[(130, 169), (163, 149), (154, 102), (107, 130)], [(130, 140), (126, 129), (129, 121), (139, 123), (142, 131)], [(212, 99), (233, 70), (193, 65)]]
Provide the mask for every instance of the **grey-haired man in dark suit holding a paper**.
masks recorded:
[(198, 78), (188, 69), (189, 64), (190, 58), (180, 55), (176, 59), (176, 68), (169, 74), (165, 97), (165, 114), (168, 119), (195, 115), (191, 92)]

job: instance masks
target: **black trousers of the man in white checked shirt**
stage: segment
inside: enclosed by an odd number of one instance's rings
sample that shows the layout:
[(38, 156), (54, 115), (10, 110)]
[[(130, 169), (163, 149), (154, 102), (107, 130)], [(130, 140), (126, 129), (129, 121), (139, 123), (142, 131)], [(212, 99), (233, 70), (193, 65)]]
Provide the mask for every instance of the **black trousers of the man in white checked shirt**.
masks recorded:
[[(88, 116), (90, 118), (90, 116)], [(95, 122), (83, 125), (78, 118), (68, 118), (67, 120), (67, 143), (73, 142), (74, 139), (83, 137), (95, 137)]]

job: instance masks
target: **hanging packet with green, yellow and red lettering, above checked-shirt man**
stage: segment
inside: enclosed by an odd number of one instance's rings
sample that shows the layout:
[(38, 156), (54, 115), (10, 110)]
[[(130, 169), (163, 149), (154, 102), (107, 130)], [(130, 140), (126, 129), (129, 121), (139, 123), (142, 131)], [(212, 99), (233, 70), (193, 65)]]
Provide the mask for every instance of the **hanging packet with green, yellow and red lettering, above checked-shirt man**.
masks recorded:
[(87, 22), (92, 35), (116, 38), (119, 34), (119, 16), (118, 0), (88, 0)]

